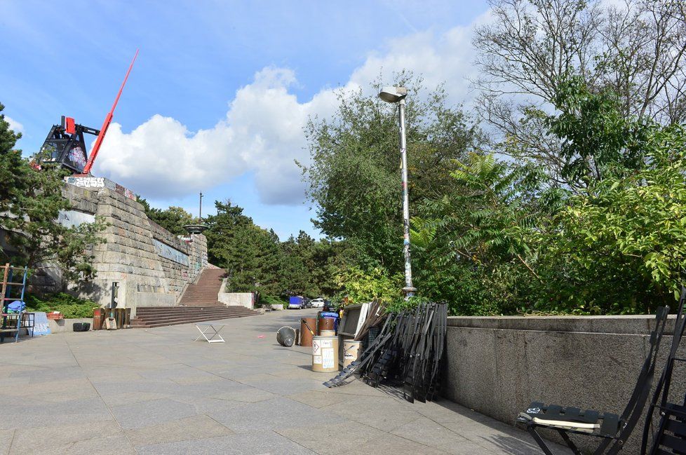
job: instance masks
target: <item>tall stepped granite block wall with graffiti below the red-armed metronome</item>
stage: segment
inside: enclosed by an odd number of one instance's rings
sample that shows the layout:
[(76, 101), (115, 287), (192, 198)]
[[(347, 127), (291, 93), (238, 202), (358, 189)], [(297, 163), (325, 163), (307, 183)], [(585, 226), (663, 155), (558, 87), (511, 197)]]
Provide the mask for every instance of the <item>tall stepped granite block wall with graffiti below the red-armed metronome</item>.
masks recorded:
[[(69, 179), (82, 182), (78, 177)], [(136, 306), (175, 305), (185, 286), (207, 266), (205, 236), (177, 237), (148, 219), (133, 192), (119, 191), (121, 186), (106, 179), (86, 179), (86, 185), (65, 185), (73, 208), (60, 215), (60, 222), (79, 224), (102, 217), (109, 226), (100, 233), (105, 243), (93, 249), (96, 278), (69, 291), (106, 305), (112, 283), (117, 283), (119, 306), (133, 308), (132, 317)], [(31, 284), (45, 291), (65, 286), (58, 269), (49, 266), (36, 273)]]

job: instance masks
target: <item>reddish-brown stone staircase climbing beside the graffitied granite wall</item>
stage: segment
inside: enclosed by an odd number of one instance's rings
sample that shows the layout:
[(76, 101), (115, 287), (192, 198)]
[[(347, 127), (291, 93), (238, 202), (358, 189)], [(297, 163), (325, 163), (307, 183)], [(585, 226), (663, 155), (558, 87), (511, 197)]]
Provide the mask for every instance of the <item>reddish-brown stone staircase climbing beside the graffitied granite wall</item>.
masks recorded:
[(203, 270), (198, 283), (187, 287), (179, 306), (141, 306), (131, 327), (163, 327), (260, 314), (244, 306), (225, 306), (217, 300), (224, 275), (223, 269)]

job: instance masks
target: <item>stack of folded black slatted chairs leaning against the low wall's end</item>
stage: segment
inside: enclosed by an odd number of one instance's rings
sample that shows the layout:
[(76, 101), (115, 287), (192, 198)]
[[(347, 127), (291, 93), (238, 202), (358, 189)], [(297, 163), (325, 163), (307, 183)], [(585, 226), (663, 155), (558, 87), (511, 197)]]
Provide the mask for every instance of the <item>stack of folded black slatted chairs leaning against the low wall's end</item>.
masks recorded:
[(382, 382), (401, 386), (409, 402), (431, 400), (438, 389), (447, 322), (446, 304), (419, 304), (389, 315), (360, 360), (324, 385), (342, 386), (351, 374), (359, 373), (373, 387)]

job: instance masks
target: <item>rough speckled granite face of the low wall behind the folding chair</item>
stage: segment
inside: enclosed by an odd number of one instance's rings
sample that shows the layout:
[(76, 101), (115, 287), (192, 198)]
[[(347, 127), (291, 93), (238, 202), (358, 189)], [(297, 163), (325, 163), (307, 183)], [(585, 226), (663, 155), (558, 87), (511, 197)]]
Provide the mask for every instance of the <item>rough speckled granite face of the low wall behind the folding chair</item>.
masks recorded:
[[(647, 315), (448, 318), (441, 390), (446, 398), (509, 424), (537, 400), (620, 414), (647, 355), (652, 327), (654, 316)], [(667, 324), (670, 336), (662, 340), (657, 376), (672, 332), (673, 319)], [(675, 400), (683, 400), (682, 369), (675, 369), (672, 390)], [(638, 453), (642, 428), (643, 421), (622, 453)], [(598, 444), (595, 438), (577, 440), (585, 449)]]

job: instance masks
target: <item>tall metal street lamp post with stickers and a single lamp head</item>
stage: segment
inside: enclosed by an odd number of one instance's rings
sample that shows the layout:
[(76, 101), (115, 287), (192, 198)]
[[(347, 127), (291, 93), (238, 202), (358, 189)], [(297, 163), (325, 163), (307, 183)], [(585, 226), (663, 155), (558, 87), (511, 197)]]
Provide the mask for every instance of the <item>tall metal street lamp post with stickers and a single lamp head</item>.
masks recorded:
[(401, 174), (403, 179), (403, 253), (405, 254), (405, 299), (415, 295), (417, 289), (412, 286), (412, 266), (410, 265), (410, 196), (408, 194), (408, 150), (405, 137), (405, 87), (384, 87), (379, 98), (385, 102), (398, 103), (398, 123), (400, 123)]

